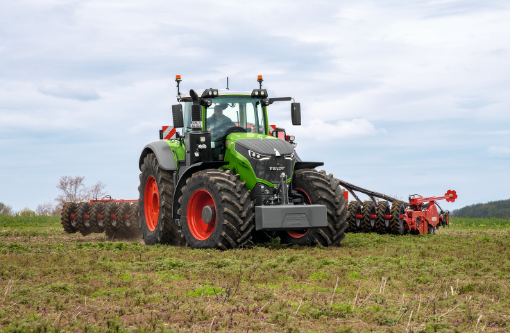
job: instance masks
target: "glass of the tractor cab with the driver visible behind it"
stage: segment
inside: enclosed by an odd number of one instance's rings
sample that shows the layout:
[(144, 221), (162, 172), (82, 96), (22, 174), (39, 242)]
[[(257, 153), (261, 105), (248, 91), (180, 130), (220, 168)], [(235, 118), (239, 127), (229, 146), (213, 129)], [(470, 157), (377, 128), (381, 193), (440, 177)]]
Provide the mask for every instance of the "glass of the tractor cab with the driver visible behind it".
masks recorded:
[[(248, 133), (266, 134), (264, 111), (260, 99), (250, 97), (224, 97), (212, 99), (212, 105), (206, 109), (205, 130), (211, 132), (211, 139), (225, 135), (231, 127), (241, 127)], [(191, 123), (191, 105), (187, 102), (184, 110), (185, 123)], [(191, 128), (185, 128), (191, 130)]]

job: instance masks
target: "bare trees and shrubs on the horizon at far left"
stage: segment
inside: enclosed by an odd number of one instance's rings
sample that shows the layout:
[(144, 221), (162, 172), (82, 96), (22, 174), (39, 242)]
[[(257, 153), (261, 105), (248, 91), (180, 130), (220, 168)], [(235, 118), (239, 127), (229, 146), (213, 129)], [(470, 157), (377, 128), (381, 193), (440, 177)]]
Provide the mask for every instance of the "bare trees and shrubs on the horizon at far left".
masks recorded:
[(56, 187), (60, 190), (58, 196), (53, 201), (37, 205), (35, 211), (28, 207), (15, 211), (11, 205), (0, 203), (0, 214), (10, 216), (55, 216), (60, 215), (62, 206), (67, 202), (80, 203), (91, 199), (103, 198), (106, 195), (106, 185), (103, 182), (99, 181), (94, 185), (87, 186), (85, 184), (85, 177), (82, 176), (62, 176), (58, 180)]

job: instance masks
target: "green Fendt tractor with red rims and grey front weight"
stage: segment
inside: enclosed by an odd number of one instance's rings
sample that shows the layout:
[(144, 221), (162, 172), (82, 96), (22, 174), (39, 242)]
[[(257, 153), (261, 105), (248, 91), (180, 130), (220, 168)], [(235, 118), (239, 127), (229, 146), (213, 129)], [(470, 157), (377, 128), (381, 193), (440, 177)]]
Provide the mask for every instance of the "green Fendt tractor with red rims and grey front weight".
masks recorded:
[[(338, 246), (348, 223), (339, 180), (299, 159), (294, 137), (273, 130), (262, 88), (189, 90), (172, 105), (171, 139), (139, 158), (139, 223), (145, 244), (227, 250), (280, 237), (285, 244)], [(291, 103), (293, 125), (300, 104)], [(283, 135), (282, 135), (283, 134)], [(282, 137), (283, 139), (281, 139)]]

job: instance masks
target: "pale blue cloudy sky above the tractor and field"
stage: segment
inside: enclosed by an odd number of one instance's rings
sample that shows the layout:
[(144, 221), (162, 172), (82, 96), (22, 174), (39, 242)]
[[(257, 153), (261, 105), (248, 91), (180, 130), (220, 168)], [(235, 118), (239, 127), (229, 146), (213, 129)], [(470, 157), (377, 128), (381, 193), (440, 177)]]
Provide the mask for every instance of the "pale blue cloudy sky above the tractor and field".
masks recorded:
[[(510, 198), (510, 1), (0, 1), (0, 202), (61, 176), (138, 198), (181, 91), (251, 90), (302, 160), (453, 210)], [(366, 198), (361, 196), (361, 198)]]

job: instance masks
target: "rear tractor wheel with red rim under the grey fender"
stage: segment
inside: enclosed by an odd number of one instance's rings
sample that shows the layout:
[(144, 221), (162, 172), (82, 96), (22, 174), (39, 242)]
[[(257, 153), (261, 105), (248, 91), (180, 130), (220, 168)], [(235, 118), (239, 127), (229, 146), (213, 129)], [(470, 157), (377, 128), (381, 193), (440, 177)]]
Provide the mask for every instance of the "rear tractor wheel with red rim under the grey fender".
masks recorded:
[(144, 158), (140, 169), (138, 215), (145, 244), (185, 245), (172, 220), (173, 173), (160, 168), (154, 153)]

